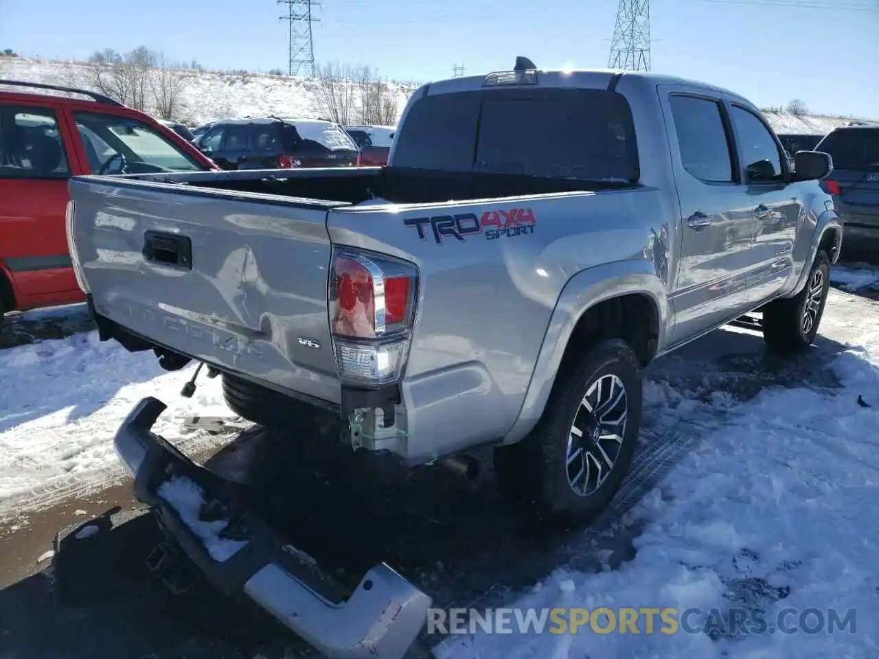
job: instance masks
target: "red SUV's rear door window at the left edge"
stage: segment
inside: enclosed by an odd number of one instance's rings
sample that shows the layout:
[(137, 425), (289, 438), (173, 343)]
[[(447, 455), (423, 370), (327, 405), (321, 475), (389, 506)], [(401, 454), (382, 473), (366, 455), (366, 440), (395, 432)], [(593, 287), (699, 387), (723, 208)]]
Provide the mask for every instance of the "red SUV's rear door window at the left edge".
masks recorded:
[(54, 111), (0, 105), (0, 178), (67, 178)]

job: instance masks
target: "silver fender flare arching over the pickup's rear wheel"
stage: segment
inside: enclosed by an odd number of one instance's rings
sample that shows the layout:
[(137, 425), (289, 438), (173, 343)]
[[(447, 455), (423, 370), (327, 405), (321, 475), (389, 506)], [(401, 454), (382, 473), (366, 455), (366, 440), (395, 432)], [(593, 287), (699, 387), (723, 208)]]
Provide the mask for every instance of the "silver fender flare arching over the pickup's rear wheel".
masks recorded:
[(646, 261), (617, 261), (597, 265), (575, 274), (563, 286), (549, 316), (541, 350), (519, 409), (519, 416), (507, 431), (503, 444), (515, 444), (534, 428), (556, 382), (564, 351), (580, 318), (599, 302), (631, 293), (647, 295), (657, 310), (657, 345), (665, 344), (669, 313), (665, 283)]

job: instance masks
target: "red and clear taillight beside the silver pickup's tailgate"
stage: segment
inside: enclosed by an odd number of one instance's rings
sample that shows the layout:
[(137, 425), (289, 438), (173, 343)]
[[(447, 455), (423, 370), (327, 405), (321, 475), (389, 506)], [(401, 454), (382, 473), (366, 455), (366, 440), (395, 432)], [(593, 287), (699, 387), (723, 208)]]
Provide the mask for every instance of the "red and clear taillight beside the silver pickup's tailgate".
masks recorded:
[(330, 329), (341, 380), (376, 387), (400, 379), (417, 291), (412, 264), (352, 250), (334, 254)]

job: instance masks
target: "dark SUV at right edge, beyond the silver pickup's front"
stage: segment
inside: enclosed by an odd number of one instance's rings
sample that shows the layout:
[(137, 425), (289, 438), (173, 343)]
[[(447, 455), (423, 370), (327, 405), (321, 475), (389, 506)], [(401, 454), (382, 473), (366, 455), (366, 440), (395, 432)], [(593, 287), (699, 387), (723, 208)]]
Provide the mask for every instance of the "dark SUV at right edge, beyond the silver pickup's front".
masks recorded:
[(843, 250), (879, 253), (879, 125), (834, 128), (815, 148), (833, 158), (821, 181), (846, 227)]

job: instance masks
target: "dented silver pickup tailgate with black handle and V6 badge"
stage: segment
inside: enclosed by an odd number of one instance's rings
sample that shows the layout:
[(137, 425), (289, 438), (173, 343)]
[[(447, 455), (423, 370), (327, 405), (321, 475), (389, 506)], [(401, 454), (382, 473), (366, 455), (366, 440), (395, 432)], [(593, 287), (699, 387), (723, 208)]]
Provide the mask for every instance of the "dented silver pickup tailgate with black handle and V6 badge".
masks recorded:
[(95, 309), (209, 364), (338, 402), (327, 207), (74, 178), (72, 235)]

